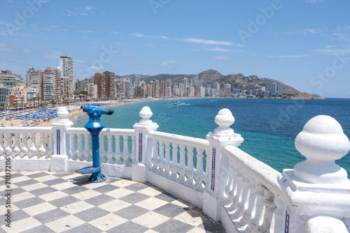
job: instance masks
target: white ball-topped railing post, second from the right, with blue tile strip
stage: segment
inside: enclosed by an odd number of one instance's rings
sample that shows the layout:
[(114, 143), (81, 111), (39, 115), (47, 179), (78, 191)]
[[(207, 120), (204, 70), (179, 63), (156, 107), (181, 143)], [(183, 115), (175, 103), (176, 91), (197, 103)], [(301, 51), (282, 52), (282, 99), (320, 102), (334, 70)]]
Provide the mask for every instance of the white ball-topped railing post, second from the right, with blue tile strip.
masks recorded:
[(215, 117), (218, 128), (207, 135), (210, 150), (207, 153), (209, 169), (206, 171), (208, 183), (203, 193), (203, 211), (216, 221), (221, 219), (221, 206), (227, 198), (225, 186), (228, 183), (229, 163), (228, 158), (223, 156), (223, 148), (228, 145), (240, 146), (244, 141), (230, 128), (234, 122), (235, 117), (230, 110), (220, 110)]

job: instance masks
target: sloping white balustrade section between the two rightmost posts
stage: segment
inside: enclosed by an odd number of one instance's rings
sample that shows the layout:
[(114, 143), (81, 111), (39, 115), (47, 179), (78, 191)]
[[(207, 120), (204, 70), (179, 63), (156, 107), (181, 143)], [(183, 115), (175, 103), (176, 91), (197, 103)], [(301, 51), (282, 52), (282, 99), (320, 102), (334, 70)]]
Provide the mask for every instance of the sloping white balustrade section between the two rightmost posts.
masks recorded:
[[(274, 197), (280, 196), (282, 192), (277, 183), (280, 173), (236, 146), (225, 146), (224, 155), (229, 158), (229, 177), (232, 176), (229, 178), (232, 179), (232, 186), (225, 187), (228, 198), (224, 206), (232, 218), (232, 223), (237, 230), (269, 232), (270, 228), (274, 228), (272, 226), (274, 213), (278, 213), (279, 217), (275, 216), (275, 219), (282, 220), (281, 201), (276, 200), (278, 205), (274, 203)], [(228, 192), (230, 187), (231, 190)]]

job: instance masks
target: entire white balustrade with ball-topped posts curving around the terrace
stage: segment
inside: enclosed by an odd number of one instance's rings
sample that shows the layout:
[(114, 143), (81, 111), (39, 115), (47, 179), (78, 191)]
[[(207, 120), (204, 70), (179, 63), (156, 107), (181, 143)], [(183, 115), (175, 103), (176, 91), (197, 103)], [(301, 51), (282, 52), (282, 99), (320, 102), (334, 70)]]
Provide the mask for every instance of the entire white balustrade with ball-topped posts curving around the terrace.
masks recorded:
[[(19, 127), (1, 128), (6, 136), (0, 137), (0, 160), (13, 157), (18, 170), (31, 163), (46, 163), (43, 167), (50, 170), (55, 163), (61, 171), (73, 171), (91, 163), (90, 133), (72, 128), (66, 110), (60, 111), (52, 127), (26, 128), (26, 133)], [(126, 178), (157, 183), (188, 197), (232, 232), (284, 232), (286, 225), (296, 232), (314, 233), (316, 225), (346, 232), (349, 179), (334, 161), (348, 153), (350, 142), (334, 119), (318, 116), (304, 126), (295, 146), (307, 160), (281, 174), (237, 148), (243, 138), (230, 128), (235, 121), (230, 110), (218, 113), (218, 128), (207, 140), (156, 131), (149, 107), (143, 107), (140, 117), (134, 129), (100, 132), (100, 161), (106, 172), (117, 170)], [(286, 216), (293, 223), (284, 223)]]

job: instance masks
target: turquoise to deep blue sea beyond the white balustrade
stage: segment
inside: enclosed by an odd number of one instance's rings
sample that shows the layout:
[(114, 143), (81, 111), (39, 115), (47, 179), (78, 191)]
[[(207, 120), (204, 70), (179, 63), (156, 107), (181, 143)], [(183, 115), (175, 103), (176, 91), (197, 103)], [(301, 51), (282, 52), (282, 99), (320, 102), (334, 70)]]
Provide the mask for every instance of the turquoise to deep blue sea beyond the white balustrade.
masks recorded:
[[(173, 105), (183, 103), (186, 105)], [(148, 106), (153, 112), (151, 120), (158, 123), (158, 131), (204, 138), (216, 125), (214, 119), (223, 108), (235, 117), (231, 128), (244, 137), (239, 149), (266, 163), (275, 170), (291, 169), (305, 160), (295, 149), (295, 137), (312, 117), (328, 115), (342, 126), (350, 137), (350, 98), (320, 100), (283, 100), (255, 98), (189, 98), (163, 99), (142, 103), (129, 103), (111, 107), (111, 116), (103, 115), (106, 128), (132, 128), (139, 122), (139, 112)], [(73, 127), (83, 127), (88, 117), (82, 114), (73, 119)], [(336, 163), (348, 172), (350, 153)]]

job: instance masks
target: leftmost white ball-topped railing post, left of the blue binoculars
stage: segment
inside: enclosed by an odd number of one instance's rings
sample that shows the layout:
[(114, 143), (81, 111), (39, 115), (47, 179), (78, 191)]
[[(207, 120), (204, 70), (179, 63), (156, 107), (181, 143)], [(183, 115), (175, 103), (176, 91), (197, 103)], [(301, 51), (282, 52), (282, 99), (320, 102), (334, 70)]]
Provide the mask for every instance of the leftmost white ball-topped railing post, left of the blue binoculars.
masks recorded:
[(73, 126), (73, 122), (69, 121), (66, 117), (69, 112), (65, 107), (59, 107), (57, 116), (59, 119), (52, 122), (53, 130), (53, 155), (50, 157), (50, 171), (51, 172), (65, 172), (66, 160), (67, 160), (67, 141), (66, 141), (66, 128)]

